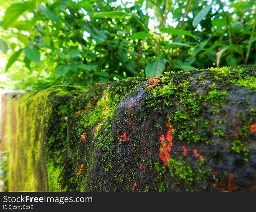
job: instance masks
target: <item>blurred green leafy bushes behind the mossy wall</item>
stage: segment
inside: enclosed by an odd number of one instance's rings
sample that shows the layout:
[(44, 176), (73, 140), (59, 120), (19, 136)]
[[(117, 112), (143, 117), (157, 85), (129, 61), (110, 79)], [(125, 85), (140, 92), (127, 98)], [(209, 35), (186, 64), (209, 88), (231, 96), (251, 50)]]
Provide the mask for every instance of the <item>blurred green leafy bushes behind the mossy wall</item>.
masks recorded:
[(6, 0), (0, 87), (39, 91), (256, 64), (254, 0)]

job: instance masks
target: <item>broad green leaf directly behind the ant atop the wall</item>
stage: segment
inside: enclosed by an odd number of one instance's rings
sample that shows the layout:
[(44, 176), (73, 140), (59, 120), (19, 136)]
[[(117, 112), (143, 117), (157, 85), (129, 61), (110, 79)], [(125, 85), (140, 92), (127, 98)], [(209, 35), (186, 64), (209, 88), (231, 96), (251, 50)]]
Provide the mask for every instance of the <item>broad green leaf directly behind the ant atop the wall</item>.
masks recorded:
[(146, 77), (152, 77), (161, 75), (166, 64), (166, 59), (164, 58), (155, 58), (153, 61), (148, 63), (145, 67)]

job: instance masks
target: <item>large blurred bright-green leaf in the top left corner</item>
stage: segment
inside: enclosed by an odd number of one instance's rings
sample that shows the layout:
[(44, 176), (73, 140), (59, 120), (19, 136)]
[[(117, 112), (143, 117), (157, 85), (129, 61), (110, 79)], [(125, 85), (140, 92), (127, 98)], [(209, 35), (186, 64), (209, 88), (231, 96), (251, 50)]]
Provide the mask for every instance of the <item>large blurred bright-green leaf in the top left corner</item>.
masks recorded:
[(19, 16), (21, 16), (26, 10), (30, 8), (30, 5), (26, 3), (15, 3), (7, 8), (1, 25), (3, 28), (8, 28), (13, 24)]

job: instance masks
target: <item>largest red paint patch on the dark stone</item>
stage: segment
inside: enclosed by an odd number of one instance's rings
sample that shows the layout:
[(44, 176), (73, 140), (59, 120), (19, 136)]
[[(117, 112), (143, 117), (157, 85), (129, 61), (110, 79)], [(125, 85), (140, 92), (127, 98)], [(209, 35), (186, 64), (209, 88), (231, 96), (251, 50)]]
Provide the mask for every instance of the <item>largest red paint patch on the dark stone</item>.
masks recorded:
[[(170, 151), (172, 150), (171, 146), (173, 145), (172, 139), (173, 139), (173, 127), (170, 126), (170, 123), (167, 122), (166, 126), (168, 127), (168, 131), (166, 134), (166, 137), (164, 137), (163, 134), (161, 134), (159, 140), (162, 144), (162, 148), (159, 149), (159, 157), (163, 161), (163, 165), (165, 166), (170, 159)], [(165, 143), (165, 140), (168, 141), (168, 144)]]

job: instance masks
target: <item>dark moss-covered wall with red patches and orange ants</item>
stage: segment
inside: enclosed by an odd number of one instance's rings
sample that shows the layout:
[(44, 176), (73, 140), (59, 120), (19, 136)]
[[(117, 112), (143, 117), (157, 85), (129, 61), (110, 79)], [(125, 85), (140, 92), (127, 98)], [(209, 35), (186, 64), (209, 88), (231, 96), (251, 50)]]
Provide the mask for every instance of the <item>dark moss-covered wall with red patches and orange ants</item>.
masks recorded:
[(255, 67), (151, 81), (7, 95), (8, 190), (255, 191)]

